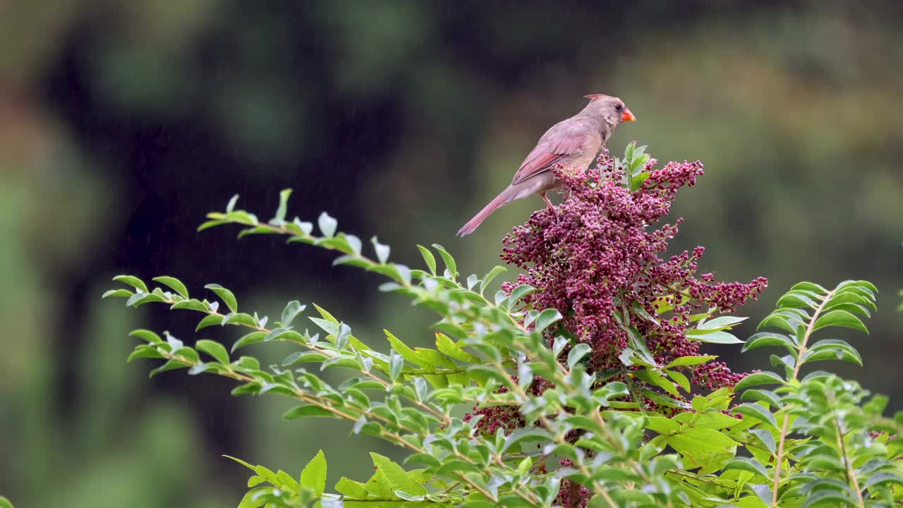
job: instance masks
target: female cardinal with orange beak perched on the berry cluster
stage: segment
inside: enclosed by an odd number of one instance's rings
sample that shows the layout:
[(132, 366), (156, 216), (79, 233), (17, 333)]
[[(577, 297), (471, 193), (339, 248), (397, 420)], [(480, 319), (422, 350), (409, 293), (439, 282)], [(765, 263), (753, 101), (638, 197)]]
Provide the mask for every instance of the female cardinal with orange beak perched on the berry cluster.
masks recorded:
[(460, 236), (472, 233), (489, 217), (489, 214), (501, 206), (526, 196), (539, 194), (546, 204), (552, 207), (552, 202), (545, 197), (546, 192), (559, 186), (552, 167), (560, 164), (573, 166), (579, 170), (586, 169), (596, 159), (596, 155), (620, 122), (632, 122), (637, 119), (617, 97), (602, 94), (585, 97), (590, 99), (586, 108), (545, 131), (536, 147), (517, 169), (507, 189), (464, 224), (461, 230), (458, 230)]

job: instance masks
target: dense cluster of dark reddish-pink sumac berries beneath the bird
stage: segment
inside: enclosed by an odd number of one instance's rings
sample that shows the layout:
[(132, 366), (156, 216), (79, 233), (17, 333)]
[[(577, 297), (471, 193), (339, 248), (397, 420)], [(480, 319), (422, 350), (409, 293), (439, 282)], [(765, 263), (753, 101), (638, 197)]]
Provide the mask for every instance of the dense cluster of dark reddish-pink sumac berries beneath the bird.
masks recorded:
[[(628, 326), (645, 339), (656, 362), (698, 354), (700, 343), (686, 338), (691, 315), (710, 308), (731, 313), (768, 285), (765, 278), (717, 283), (712, 274), (697, 275), (703, 247), (663, 259), (683, 220), (657, 222), (670, 212), (677, 191), (696, 183), (703, 165), (671, 162), (654, 169), (656, 162), (647, 163), (648, 178), (636, 192), (621, 184), (624, 172), (607, 150), (586, 174), (556, 168), (570, 197), (535, 212), (504, 240), (501, 258), (526, 271), (507, 290), (535, 287), (526, 303), (558, 309), (563, 329), (591, 345), (588, 367), (594, 371), (622, 368)], [(707, 388), (743, 376), (714, 362), (692, 375), (694, 384)]]

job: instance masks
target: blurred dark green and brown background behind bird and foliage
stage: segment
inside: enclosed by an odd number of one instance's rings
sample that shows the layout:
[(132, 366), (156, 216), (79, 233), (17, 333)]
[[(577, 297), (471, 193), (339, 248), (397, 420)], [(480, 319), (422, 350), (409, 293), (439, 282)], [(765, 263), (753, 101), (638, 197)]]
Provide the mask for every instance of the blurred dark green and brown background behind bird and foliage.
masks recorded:
[[(537, 136), (587, 93), (625, 99), (630, 140), (702, 159), (675, 249), (708, 247), (724, 280), (766, 276), (742, 309), (752, 333), (798, 280), (868, 278), (881, 290), (866, 368), (827, 365), (903, 408), (895, 312), (903, 287), (903, 4), (440, 0), (0, 1), (0, 494), (17, 506), (235, 505), (247, 478), (220, 454), (296, 474), (319, 448), (340, 475), (371, 473), (334, 420), (283, 421), (281, 400), (226, 381), (146, 379), (132, 328), (191, 332), (185, 313), (101, 301), (117, 273), (233, 288), (277, 315), (298, 298), (379, 343), (426, 343), (431, 315), (330, 268), (310, 248), (204, 213), (329, 211), (393, 258), (442, 243), (467, 273), (542, 202), (454, 232), (507, 184)], [(508, 275), (511, 275), (509, 272)], [(191, 315), (193, 318), (194, 316)], [(768, 353), (711, 348), (737, 370)], [(279, 346), (253, 353), (278, 359)]]

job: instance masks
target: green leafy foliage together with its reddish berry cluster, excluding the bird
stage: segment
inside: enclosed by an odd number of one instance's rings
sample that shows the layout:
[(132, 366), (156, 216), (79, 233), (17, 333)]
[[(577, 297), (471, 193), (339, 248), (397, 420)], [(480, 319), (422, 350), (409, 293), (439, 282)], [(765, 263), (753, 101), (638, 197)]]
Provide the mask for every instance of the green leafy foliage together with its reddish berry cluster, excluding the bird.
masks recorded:
[[(242, 508), (900, 505), (903, 414), (882, 416), (886, 398), (812, 368), (861, 365), (840, 337), (867, 333), (877, 289), (801, 282), (741, 341), (734, 313), (767, 281), (716, 282), (701, 273), (701, 247), (666, 255), (681, 220), (663, 220), (703, 165), (656, 168), (644, 152), (631, 144), (587, 172), (557, 169), (568, 198), (507, 235), (501, 258), (521, 271), (500, 289), (493, 282), (506, 268), (464, 276), (439, 245), (417, 246), (424, 266), (410, 268), (376, 238), (365, 254), (326, 213), (316, 225), (288, 220), (288, 190), (270, 221), (233, 198), (200, 226), (336, 251), (336, 265), (386, 278), (379, 290), (400, 309), (408, 299), (434, 313), (434, 348), (387, 330), (356, 335), (314, 304), (290, 302), (270, 319), (217, 284), (207, 299), (176, 278), (119, 276), (126, 287), (104, 296), (197, 313), (205, 335), (227, 334), (213, 325), (244, 332), (227, 347), (135, 330), (129, 361), (161, 361), (152, 375), (227, 377), (235, 395), (297, 402), (286, 419), (345, 420), (349, 433), (407, 454), (403, 464), (370, 454), (373, 476), (330, 489), (322, 452), (300, 475), (235, 459), (251, 470)], [(277, 341), (296, 348), (278, 364), (245, 353)], [(732, 372), (707, 343), (769, 348), (770, 370)], [(326, 369), (347, 375), (330, 383)]]

